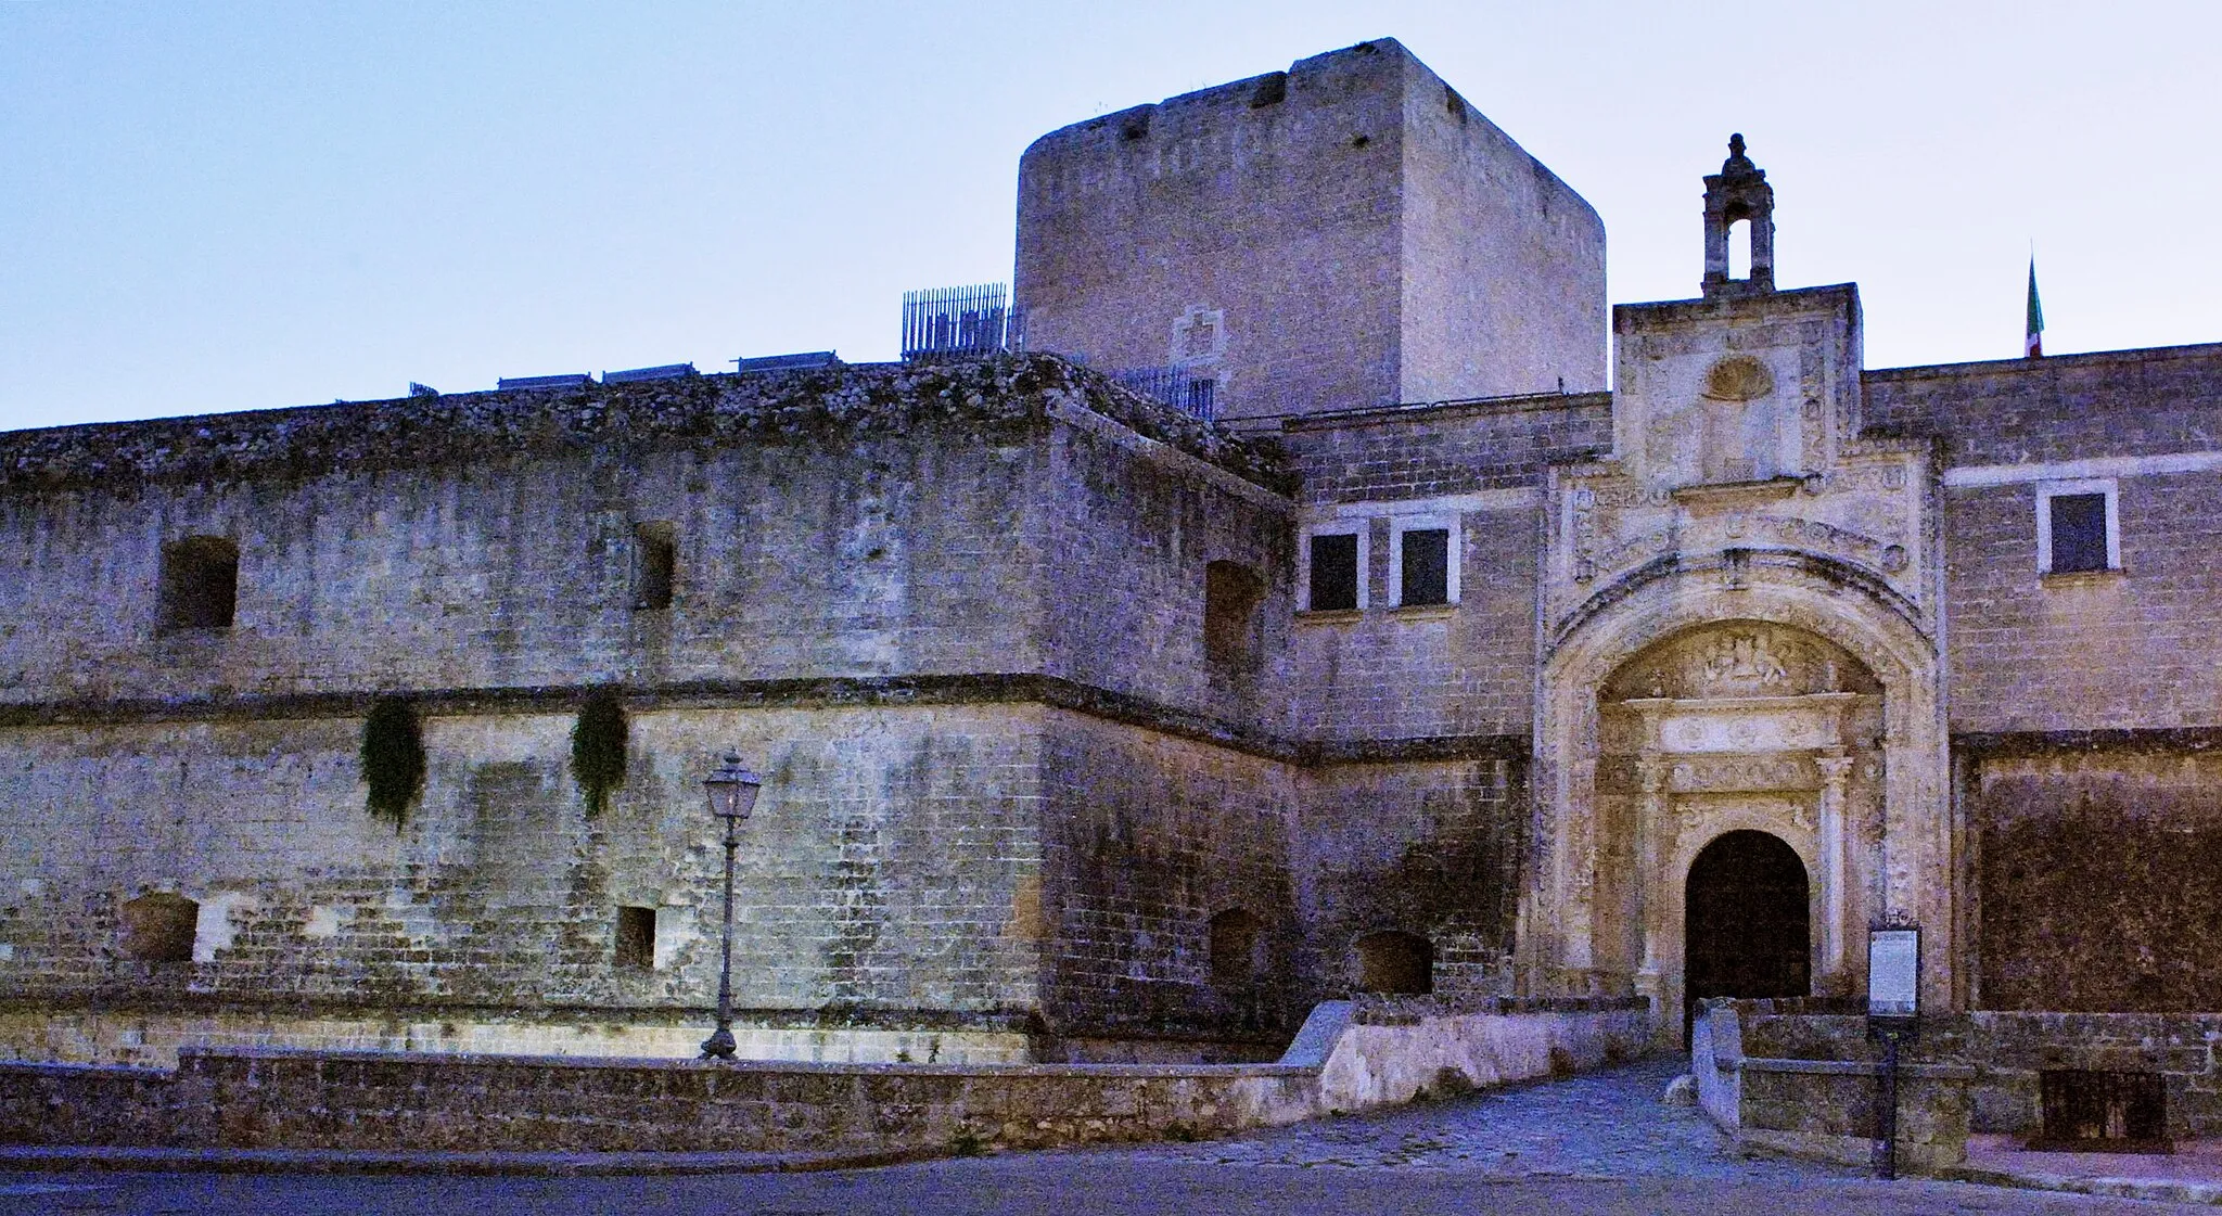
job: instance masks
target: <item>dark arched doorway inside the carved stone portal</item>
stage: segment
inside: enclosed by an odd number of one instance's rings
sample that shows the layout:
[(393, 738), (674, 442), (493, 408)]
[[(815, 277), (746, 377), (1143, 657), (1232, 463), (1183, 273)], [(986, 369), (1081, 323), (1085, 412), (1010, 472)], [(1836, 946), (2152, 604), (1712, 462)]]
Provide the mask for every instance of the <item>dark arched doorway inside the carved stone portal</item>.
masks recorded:
[(1689, 865), (1682, 911), (1682, 1045), (1706, 996), (1806, 996), (1813, 916), (1798, 851), (1764, 831), (1729, 831)]

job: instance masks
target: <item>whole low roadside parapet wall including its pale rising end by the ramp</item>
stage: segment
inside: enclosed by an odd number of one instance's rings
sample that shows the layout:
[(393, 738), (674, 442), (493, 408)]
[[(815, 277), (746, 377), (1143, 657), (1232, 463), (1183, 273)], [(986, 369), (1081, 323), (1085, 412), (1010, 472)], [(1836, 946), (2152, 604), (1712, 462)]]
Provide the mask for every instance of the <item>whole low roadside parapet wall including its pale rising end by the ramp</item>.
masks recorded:
[[(1275, 1065), (809, 1065), (187, 1049), (176, 1069), (0, 1065), (16, 1145), (420, 1152), (964, 1152), (1224, 1136), (1595, 1067), (1640, 1009), (1360, 1025)], [(1455, 1080), (1453, 1080), (1455, 1076)]]

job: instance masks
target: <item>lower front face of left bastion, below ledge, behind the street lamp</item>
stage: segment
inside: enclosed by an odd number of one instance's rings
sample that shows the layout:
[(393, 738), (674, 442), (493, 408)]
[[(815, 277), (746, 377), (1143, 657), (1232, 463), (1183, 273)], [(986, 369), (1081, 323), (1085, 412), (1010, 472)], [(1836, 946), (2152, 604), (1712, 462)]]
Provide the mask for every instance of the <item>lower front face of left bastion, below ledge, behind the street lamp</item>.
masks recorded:
[[(369, 1018), (698, 1011), (722, 865), (700, 778), (738, 747), (764, 776), (735, 878), (742, 1009), (1024, 1014), (1040, 714), (633, 714), (627, 785), (593, 820), (567, 771), (569, 716), (440, 716), (402, 831), (362, 809), (358, 720), (16, 731), (0, 976), (49, 1007), (98, 987), (104, 1005), (311, 1000)], [(118, 954), (118, 907), (142, 889), (202, 905), (198, 960)], [(615, 965), (620, 905), (658, 909), (655, 969)]]

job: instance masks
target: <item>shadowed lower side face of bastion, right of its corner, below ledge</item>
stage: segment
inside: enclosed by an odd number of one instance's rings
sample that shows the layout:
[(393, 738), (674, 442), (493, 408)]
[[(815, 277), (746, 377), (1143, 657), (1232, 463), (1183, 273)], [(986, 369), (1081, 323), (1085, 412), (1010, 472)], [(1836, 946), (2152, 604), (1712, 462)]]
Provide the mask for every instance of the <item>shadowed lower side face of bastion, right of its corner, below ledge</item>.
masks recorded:
[[(1300, 976), (1291, 767), (1153, 731), (1053, 714), (1042, 740), (1042, 1011), (1060, 1036), (1287, 1034)], [(1258, 983), (1215, 991), (1209, 931), (1244, 909)]]

